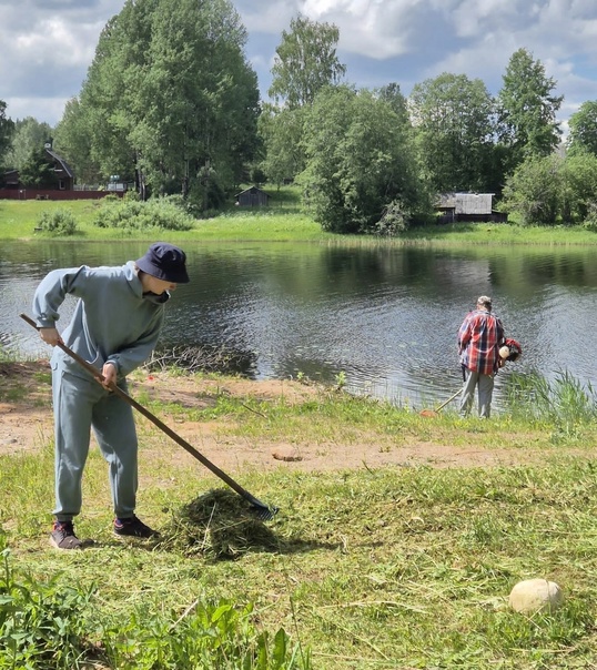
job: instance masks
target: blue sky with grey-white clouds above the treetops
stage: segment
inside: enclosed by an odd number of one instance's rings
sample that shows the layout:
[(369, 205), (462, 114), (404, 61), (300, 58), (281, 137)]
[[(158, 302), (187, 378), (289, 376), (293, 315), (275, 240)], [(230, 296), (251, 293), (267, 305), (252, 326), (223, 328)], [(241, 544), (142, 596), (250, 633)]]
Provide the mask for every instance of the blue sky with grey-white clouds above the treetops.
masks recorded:
[[(124, 0), (0, 0), (0, 100), (13, 120), (54, 125), (81, 89), (105, 22)], [(397, 82), (403, 93), (442, 72), (482, 79), (497, 93), (519, 48), (565, 97), (559, 118), (597, 100), (596, 0), (235, 0), (246, 55), (264, 100), (283, 30), (298, 12), (340, 28), (347, 82)]]

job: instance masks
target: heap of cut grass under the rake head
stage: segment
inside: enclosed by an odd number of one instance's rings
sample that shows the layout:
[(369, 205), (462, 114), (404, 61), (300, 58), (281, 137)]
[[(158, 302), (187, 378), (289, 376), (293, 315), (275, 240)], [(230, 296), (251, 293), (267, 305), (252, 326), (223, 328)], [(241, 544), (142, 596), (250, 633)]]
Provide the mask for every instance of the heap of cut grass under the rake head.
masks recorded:
[(247, 551), (275, 551), (276, 536), (230, 489), (212, 489), (178, 510), (162, 531), (163, 544), (184, 555), (234, 559)]

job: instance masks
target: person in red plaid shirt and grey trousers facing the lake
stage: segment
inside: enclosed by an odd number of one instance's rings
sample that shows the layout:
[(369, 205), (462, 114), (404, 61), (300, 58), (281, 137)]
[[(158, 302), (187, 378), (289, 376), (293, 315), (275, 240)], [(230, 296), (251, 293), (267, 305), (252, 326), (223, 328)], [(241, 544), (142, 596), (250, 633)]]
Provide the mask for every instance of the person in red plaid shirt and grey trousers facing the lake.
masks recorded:
[(499, 347), (505, 343), (504, 326), (492, 314), (492, 298), (482, 295), (458, 331), (458, 352), (463, 366), (464, 386), (461, 414), (468, 416), (478, 387), (478, 413), (489, 418), (494, 377), (500, 367)]

